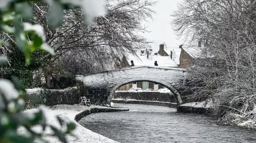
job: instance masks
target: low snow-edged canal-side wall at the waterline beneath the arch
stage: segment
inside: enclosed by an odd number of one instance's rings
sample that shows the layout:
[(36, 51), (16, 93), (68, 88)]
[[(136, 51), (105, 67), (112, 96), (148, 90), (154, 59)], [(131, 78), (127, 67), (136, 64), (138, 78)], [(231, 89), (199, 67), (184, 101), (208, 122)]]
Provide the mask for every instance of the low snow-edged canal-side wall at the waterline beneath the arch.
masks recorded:
[(142, 101), (142, 100), (129, 100), (125, 102), (125, 100), (111, 100), (113, 103), (127, 103), (127, 104), (145, 104), (145, 105), (154, 105), (154, 106), (164, 106), (170, 108), (177, 108), (176, 103), (170, 102), (158, 102), (158, 101)]

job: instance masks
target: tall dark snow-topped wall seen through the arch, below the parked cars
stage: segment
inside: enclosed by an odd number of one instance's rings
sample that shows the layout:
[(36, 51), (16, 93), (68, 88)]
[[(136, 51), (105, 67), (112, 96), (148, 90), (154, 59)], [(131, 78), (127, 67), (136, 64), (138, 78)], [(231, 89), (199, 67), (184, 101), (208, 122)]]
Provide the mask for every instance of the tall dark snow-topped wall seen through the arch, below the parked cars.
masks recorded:
[(120, 98), (130, 98), (135, 100), (144, 101), (160, 101), (160, 102), (171, 102), (176, 103), (176, 99), (171, 93), (158, 92), (158, 91), (116, 91), (113, 95), (114, 99)]

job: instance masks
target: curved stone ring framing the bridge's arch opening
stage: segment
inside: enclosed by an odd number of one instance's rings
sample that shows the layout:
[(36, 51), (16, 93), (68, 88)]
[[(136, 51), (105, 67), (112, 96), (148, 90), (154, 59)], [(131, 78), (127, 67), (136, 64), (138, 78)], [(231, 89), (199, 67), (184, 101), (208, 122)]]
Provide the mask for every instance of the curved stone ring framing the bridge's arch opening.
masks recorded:
[(163, 86), (165, 86), (166, 88), (170, 89), (172, 94), (174, 94), (174, 97), (176, 98), (176, 102), (177, 102), (177, 106), (182, 104), (182, 99), (181, 96), (179, 94), (179, 92), (176, 90), (176, 88), (174, 88), (172, 86), (172, 84), (165, 82), (163, 80), (159, 80), (156, 78), (150, 78), (150, 77), (136, 77), (136, 78), (128, 78), (126, 80), (122, 80), (121, 82), (119, 82), (118, 84), (116, 84), (116, 86), (114, 86), (112, 88), (112, 90), (110, 91), (110, 94), (108, 95), (108, 104), (110, 104), (112, 96), (114, 95), (115, 91), (120, 87), (123, 86), (125, 84), (128, 84), (130, 82), (138, 82), (138, 81), (148, 81), (148, 82), (155, 82), (158, 84), (162, 84)]

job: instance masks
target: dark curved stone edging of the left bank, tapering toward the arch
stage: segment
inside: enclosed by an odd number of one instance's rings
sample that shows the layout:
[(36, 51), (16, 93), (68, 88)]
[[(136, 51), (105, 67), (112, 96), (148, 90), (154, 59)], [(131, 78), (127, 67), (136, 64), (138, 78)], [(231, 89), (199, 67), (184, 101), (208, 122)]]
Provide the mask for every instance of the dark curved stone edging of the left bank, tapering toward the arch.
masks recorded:
[(120, 111), (129, 111), (129, 108), (90, 108), (86, 109), (83, 112), (80, 112), (75, 116), (75, 120), (79, 121), (84, 116), (87, 116), (91, 113), (97, 113), (97, 112), (120, 112)]

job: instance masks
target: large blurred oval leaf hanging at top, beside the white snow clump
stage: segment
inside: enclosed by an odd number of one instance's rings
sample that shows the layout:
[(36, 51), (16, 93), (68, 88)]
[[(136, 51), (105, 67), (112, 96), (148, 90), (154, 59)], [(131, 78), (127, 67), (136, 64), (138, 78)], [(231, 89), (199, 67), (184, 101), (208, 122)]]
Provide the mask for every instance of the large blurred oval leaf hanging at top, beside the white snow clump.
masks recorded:
[(56, 29), (58, 28), (63, 21), (63, 10), (64, 8), (62, 7), (62, 5), (60, 5), (60, 3), (53, 1), (52, 5), (49, 8), (48, 11), (48, 21), (49, 21), (49, 25)]

